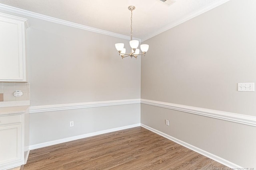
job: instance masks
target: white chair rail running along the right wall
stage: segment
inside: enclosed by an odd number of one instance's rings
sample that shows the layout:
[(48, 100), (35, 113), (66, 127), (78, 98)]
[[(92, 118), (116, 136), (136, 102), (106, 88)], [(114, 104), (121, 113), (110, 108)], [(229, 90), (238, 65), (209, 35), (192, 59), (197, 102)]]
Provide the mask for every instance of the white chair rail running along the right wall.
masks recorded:
[(212, 117), (215, 119), (232, 121), (232, 122), (241, 123), (241, 124), (250, 125), (250, 126), (256, 126), (256, 116), (242, 115), (237, 113), (230, 113), (225, 111), (204, 109), (200, 107), (185, 106), (180, 104), (172, 104), (172, 103), (159, 102), (159, 101), (146, 100), (146, 99), (141, 99), (140, 103), (148, 104), (151, 106), (164, 107), (167, 109), (184, 111), (184, 112), (193, 113), (196, 115)]

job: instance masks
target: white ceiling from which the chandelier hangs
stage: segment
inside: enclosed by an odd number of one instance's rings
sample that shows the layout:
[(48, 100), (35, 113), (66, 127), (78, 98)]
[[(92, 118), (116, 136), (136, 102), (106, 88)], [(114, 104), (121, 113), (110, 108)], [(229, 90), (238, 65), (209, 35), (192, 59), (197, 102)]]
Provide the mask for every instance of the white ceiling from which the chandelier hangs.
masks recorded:
[(167, 6), (160, 0), (0, 0), (1, 4), (145, 40), (228, 0), (176, 0)]

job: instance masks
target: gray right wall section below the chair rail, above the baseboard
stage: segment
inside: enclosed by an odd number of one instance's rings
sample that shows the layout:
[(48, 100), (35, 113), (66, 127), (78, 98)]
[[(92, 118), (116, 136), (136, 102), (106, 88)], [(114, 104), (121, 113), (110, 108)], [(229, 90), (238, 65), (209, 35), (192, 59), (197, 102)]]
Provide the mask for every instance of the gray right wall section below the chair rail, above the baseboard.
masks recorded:
[(256, 167), (254, 126), (146, 104), (141, 104), (141, 123), (238, 166)]

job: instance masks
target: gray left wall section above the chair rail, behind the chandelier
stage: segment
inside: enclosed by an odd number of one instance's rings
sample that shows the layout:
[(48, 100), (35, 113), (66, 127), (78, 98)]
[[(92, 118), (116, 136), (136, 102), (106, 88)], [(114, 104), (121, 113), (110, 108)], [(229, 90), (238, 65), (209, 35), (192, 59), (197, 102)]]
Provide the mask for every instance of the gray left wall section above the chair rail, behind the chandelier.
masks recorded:
[(128, 40), (29, 20), (31, 106), (140, 98), (140, 59), (123, 59)]

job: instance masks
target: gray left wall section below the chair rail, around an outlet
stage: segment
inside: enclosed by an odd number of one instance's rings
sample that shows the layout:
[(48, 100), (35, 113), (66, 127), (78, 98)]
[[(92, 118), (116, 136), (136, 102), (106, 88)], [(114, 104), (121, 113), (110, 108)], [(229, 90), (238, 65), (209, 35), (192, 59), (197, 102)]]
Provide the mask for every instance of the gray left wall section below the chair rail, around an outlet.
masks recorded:
[(140, 104), (30, 113), (30, 145), (138, 123)]

